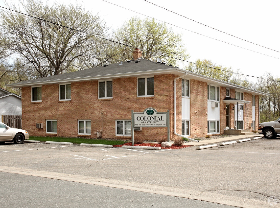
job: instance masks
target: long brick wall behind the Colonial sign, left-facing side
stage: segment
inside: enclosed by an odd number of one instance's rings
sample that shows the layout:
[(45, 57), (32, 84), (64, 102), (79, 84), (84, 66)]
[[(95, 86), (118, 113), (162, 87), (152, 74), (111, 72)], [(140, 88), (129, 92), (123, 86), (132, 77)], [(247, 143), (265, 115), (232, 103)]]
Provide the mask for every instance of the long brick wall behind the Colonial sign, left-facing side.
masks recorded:
[[(31, 136), (46, 136), (46, 120), (57, 120), (57, 134), (51, 136), (78, 135), (79, 119), (91, 120), (91, 136), (102, 130), (101, 113), (103, 114), (102, 138), (124, 138), (115, 136), (115, 120), (131, 119), (131, 110), (143, 112), (146, 108), (155, 108), (158, 112), (170, 110), (170, 139), (174, 132), (174, 96), (173, 81), (175, 75), (156, 75), (154, 79), (155, 96), (137, 98), (137, 78), (113, 79), (113, 98), (98, 99), (98, 81), (71, 83), (71, 101), (59, 101), (59, 85), (43, 85), (42, 101), (31, 102), (31, 87), (22, 88), (22, 124)], [(177, 81), (178, 95), (181, 83)], [(178, 96), (177, 96), (178, 97)], [(181, 99), (177, 99), (181, 108)], [(177, 122), (181, 124), (181, 111), (177, 110)], [(43, 129), (36, 129), (36, 123), (43, 123)], [(167, 136), (167, 128), (142, 128), (135, 131), (135, 136), (155, 139)], [(181, 126), (177, 125), (181, 131)], [(177, 137), (177, 136), (176, 136)], [(130, 137), (126, 137), (130, 138)]]

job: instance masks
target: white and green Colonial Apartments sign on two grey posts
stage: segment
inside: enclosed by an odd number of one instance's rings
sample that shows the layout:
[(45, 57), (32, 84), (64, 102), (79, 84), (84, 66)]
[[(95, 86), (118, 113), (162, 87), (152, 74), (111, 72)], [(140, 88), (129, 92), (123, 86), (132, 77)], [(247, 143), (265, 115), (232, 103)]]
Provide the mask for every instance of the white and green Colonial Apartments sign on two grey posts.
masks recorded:
[(134, 127), (167, 127), (167, 141), (169, 142), (169, 110), (160, 113), (155, 108), (146, 108), (143, 113), (134, 113), (132, 110), (132, 145), (134, 145)]

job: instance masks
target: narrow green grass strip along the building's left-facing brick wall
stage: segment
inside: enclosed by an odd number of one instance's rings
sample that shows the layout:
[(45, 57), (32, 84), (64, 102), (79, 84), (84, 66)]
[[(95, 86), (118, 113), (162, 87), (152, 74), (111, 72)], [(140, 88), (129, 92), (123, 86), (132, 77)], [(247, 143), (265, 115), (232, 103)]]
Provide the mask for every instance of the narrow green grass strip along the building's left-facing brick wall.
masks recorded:
[(51, 141), (51, 142), (72, 142), (73, 144), (124, 144), (125, 141), (120, 140), (105, 140), (105, 139), (84, 139), (84, 138), (68, 138), (68, 137), (34, 137), (30, 136), (29, 140), (38, 140), (41, 142)]

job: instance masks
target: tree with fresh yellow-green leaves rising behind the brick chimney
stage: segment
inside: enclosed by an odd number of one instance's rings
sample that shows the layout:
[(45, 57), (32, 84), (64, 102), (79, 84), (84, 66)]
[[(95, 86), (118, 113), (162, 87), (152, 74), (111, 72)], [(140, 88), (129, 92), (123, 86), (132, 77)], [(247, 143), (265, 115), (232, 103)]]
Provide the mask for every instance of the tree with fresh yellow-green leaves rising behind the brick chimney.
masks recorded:
[[(157, 61), (160, 57), (162, 61), (175, 65), (178, 60), (166, 57), (166, 55), (179, 59), (189, 57), (181, 35), (174, 33), (164, 23), (158, 23), (154, 19), (131, 18), (116, 30), (115, 40), (143, 49), (142, 57), (151, 61)], [(111, 59), (111, 62), (132, 59), (135, 48), (126, 45), (115, 45), (118, 55)]]

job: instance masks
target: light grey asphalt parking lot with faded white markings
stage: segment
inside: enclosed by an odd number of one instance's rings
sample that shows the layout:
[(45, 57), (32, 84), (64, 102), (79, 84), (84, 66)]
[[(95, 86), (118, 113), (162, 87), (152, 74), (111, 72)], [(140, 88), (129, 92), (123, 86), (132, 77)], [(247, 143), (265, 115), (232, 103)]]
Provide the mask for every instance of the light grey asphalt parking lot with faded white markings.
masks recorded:
[(5, 143), (0, 158), (7, 172), (88, 177), (91, 184), (240, 207), (280, 206), (280, 139), (162, 151)]

